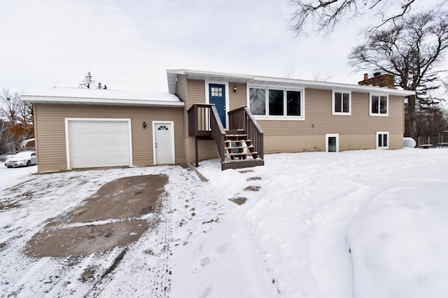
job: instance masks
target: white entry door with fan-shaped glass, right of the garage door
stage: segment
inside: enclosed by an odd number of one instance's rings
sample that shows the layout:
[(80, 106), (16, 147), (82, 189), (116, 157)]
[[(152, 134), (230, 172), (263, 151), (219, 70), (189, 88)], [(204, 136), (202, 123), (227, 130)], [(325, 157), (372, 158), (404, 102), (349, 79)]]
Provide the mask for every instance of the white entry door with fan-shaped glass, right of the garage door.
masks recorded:
[(154, 164), (174, 164), (174, 123), (153, 122)]

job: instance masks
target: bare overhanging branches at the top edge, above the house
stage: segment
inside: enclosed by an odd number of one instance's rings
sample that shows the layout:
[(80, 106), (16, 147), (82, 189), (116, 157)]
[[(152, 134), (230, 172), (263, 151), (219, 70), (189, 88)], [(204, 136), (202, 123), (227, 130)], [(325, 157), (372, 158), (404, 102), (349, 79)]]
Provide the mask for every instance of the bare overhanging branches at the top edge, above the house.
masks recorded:
[[(295, 7), (290, 17), (290, 26), (296, 34), (312, 31), (319, 34), (330, 34), (341, 20), (352, 20), (355, 17), (373, 15), (376, 24), (372, 24), (369, 32), (385, 24), (392, 24), (412, 11), (417, 4), (427, 6), (424, 0), (290, 0)], [(447, 0), (440, 0), (438, 6), (444, 6)]]

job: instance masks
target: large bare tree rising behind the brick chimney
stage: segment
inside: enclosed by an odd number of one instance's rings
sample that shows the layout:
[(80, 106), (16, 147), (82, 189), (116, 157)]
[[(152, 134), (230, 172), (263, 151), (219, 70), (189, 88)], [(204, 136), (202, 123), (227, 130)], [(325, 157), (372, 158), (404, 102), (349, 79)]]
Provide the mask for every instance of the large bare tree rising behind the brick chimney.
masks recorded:
[(349, 64), (356, 70), (391, 73), (395, 85), (416, 91), (408, 97), (409, 136), (416, 137), (416, 107), (433, 101), (432, 90), (440, 87), (437, 66), (448, 48), (448, 22), (444, 11), (407, 15), (388, 29), (376, 31), (367, 43), (353, 48)]

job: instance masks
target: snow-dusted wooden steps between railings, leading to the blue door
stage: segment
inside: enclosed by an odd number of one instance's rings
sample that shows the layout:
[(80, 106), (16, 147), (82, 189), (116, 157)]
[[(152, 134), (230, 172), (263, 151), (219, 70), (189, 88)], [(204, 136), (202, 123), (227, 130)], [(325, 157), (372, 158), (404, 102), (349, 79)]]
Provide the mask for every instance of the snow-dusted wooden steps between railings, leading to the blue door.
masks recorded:
[(224, 139), (225, 161), (223, 169), (241, 169), (251, 166), (262, 166), (264, 160), (258, 158), (258, 152), (248, 139), (244, 130), (229, 130)]

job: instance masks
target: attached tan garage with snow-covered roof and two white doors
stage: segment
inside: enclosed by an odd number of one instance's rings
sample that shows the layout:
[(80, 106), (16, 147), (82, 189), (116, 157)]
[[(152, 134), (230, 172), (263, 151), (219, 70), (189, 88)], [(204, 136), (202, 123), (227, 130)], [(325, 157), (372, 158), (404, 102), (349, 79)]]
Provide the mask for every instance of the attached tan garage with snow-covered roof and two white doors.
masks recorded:
[(185, 104), (174, 94), (52, 87), (22, 99), (34, 108), (39, 173), (186, 160)]

